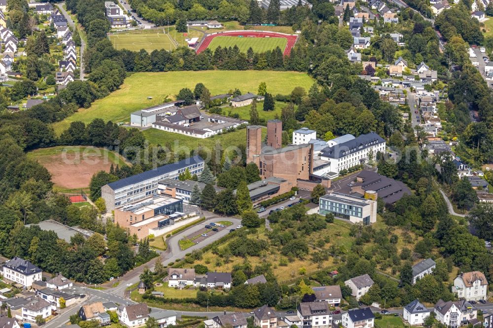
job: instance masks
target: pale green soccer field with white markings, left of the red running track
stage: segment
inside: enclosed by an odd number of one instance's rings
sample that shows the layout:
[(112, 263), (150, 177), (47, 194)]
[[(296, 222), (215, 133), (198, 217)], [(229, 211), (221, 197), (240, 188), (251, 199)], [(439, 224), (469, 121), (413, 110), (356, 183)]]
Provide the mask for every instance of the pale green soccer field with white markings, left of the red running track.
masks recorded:
[(165, 34), (164, 30), (139, 30), (125, 33), (115, 33), (109, 35), (109, 40), (115, 49), (128, 49), (139, 51), (145, 49), (152, 50), (173, 50), (176, 44), (170, 34)]

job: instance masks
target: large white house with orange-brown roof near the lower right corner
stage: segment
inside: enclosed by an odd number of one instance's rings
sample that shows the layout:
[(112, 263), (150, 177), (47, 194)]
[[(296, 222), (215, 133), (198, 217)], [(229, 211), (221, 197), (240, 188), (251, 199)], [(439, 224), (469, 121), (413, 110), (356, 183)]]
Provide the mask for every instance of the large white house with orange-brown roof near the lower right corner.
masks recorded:
[(454, 279), (452, 293), (466, 300), (488, 299), (488, 281), (483, 272), (461, 272)]

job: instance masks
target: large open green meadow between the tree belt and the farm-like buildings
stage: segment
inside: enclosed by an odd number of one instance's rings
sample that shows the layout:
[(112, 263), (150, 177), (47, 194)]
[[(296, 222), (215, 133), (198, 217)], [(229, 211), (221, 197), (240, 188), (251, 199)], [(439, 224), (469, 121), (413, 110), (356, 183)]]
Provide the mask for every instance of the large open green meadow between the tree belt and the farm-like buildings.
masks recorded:
[(130, 113), (157, 105), (168, 98), (175, 98), (182, 88), (193, 90), (199, 82), (205, 84), (211, 95), (224, 94), (235, 88), (240, 89), (242, 93), (255, 93), (260, 82), (267, 84), (269, 93), (285, 95), (298, 86), (310, 89), (314, 80), (308, 74), (290, 71), (203, 70), (135, 73), (125, 79), (120, 89), (106, 98), (96, 100), (89, 108), (80, 108), (64, 121), (55, 123), (53, 127), (60, 135), (73, 121), (90, 123), (95, 118), (101, 118), (104, 121), (128, 122)]

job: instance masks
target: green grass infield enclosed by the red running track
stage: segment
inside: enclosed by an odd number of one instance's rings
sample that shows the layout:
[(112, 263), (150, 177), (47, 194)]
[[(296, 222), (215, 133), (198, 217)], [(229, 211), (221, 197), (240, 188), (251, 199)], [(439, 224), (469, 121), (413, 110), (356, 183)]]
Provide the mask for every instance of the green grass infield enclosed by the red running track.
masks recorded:
[(209, 49), (214, 51), (217, 47), (223, 48), (234, 47), (240, 48), (240, 52), (246, 52), (249, 47), (254, 52), (266, 52), (267, 50), (281, 48), (284, 51), (287, 40), (283, 37), (238, 37), (238, 36), (216, 36), (209, 44)]

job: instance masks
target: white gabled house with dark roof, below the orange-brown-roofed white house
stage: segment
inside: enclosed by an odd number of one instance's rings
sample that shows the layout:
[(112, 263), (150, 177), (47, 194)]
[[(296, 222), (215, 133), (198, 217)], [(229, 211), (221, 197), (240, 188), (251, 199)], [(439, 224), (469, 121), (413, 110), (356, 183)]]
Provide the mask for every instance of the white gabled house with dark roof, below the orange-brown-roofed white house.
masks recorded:
[(469, 320), (477, 319), (478, 310), (468, 301), (445, 302), (439, 299), (434, 308), (435, 319), (450, 328), (458, 328)]

